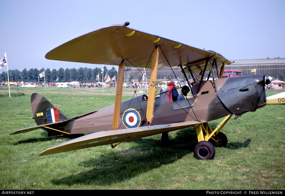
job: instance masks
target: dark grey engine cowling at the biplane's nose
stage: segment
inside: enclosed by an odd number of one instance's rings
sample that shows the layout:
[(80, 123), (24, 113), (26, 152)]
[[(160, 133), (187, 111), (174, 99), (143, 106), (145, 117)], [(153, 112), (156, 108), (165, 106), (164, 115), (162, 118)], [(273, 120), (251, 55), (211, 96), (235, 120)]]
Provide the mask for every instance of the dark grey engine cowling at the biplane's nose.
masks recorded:
[(266, 105), (265, 84), (268, 76), (248, 75), (216, 81), (217, 96), (232, 114), (254, 112)]

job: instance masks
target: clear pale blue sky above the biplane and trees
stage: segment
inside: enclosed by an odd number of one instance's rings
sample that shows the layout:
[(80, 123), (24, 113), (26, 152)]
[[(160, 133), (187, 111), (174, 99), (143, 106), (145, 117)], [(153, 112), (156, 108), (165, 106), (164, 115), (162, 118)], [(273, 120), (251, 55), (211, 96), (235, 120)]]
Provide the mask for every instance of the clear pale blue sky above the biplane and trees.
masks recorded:
[(45, 55), (78, 36), (124, 22), (130, 22), (130, 28), (213, 50), (229, 60), (285, 58), (284, 0), (0, 0), (0, 3), (0, 58), (7, 51), (11, 70), (100, 67), (48, 60)]

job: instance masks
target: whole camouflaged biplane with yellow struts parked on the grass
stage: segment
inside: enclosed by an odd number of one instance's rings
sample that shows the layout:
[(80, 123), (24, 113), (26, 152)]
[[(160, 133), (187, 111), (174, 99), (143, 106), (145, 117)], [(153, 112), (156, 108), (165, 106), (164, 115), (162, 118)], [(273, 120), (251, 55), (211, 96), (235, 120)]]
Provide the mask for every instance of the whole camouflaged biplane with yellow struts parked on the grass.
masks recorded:
[[(225, 147), (227, 137), (220, 132), (232, 115), (235, 119), (266, 105), (268, 76), (249, 75), (223, 78), (224, 65), (231, 62), (214, 51), (194, 48), (157, 35), (115, 24), (75, 38), (46, 54), (46, 59), (79, 63), (117, 65), (115, 104), (74, 118), (66, 117), (40, 94), (32, 94), (31, 106), (37, 126), (11, 134), (43, 129), (49, 133), (91, 133), (49, 148), (40, 156), (111, 145), (162, 134), (167, 143), (170, 131), (196, 127), (198, 143), (194, 155), (212, 159), (215, 147)], [(125, 66), (150, 69), (148, 95), (121, 102)], [(189, 86), (188, 97), (177, 101), (178, 90), (168, 83), (158, 89), (157, 69), (179, 67)], [(189, 78), (193, 82), (189, 82)], [(224, 118), (213, 130), (209, 121)], [(115, 145), (114, 145), (115, 144)]]

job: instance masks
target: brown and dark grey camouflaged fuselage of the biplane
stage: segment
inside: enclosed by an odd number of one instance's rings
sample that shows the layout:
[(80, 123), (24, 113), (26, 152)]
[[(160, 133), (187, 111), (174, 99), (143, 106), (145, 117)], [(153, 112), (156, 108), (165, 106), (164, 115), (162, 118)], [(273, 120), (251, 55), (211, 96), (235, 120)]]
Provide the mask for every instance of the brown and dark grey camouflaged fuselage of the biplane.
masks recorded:
[[(191, 120), (212, 121), (229, 114), (240, 115), (245, 112), (254, 112), (257, 108), (266, 105), (264, 90), (264, 77), (250, 75), (243, 77), (221, 78), (215, 80), (217, 92), (212, 81), (202, 81), (201, 87), (193, 98), (169, 103), (168, 92), (162, 92), (155, 98), (154, 117), (151, 125), (179, 123)], [(198, 84), (193, 85), (196, 92)], [(188, 95), (189, 96), (189, 95)], [(45, 111), (54, 106), (39, 94), (31, 98), (32, 111), (38, 125), (48, 123)], [(119, 129), (130, 128), (132, 122), (123, 122), (123, 114), (128, 109), (133, 109), (138, 121), (132, 127), (147, 126), (145, 119), (147, 100), (138, 96), (121, 102)], [(60, 112), (60, 111), (59, 111)], [(49, 125), (50, 128), (70, 134), (95, 133), (112, 129), (114, 105), (95, 110), (78, 117), (68, 119), (60, 112), (62, 123)], [(37, 114), (42, 113), (43, 116)], [(129, 117), (132, 120), (132, 117)], [(134, 120), (134, 119), (133, 119)], [(42, 128), (46, 131), (50, 129)]]

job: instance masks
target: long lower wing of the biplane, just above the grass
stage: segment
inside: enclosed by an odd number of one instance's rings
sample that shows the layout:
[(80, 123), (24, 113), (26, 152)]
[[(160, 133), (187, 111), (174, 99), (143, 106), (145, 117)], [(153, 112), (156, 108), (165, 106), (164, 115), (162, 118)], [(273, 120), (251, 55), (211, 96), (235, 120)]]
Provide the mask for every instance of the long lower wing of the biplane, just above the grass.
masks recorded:
[(150, 135), (156, 135), (156, 134), (163, 133), (163, 132), (183, 129), (186, 127), (198, 125), (198, 124), (205, 123), (205, 122), (206, 121), (186, 121), (182, 123), (153, 125), (153, 126), (137, 127), (137, 128), (131, 128), (131, 129), (100, 131), (97, 133), (92, 133), (89, 135), (85, 135), (85, 136), (70, 140), (60, 145), (56, 145), (40, 153), (40, 156), (56, 154), (60, 152), (67, 152), (70, 150), (78, 150), (82, 148), (101, 146), (101, 145), (106, 145), (106, 144), (111, 144), (111, 143), (118, 143), (122, 141), (130, 141), (133, 139), (147, 137)]

